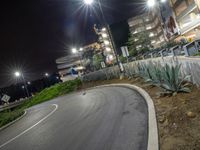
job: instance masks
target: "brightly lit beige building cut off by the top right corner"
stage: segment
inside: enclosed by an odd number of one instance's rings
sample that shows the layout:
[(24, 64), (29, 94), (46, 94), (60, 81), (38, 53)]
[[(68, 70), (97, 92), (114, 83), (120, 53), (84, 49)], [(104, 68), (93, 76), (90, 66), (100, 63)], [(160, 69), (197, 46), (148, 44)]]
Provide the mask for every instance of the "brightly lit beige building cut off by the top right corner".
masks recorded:
[(200, 39), (200, 0), (169, 1), (181, 34), (177, 39)]

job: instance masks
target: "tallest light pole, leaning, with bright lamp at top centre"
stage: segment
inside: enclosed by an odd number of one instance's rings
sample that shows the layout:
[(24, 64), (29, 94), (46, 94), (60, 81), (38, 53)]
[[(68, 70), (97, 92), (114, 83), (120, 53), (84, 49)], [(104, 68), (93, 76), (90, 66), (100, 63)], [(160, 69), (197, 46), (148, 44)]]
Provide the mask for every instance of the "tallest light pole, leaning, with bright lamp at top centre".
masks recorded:
[[(94, 0), (83, 0), (83, 2), (84, 2), (84, 4), (90, 6), (90, 5), (92, 5), (92, 4), (94, 3)], [(105, 19), (105, 17), (104, 17), (104, 13), (103, 13), (103, 9), (102, 9), (100, 0), (97, 0), (97, 3), (98, 3), (98, 5), (99, 5), (99, 8), (100, 8), (100, 11), (101, 11), (103, 20), (104, 20), (104, 22), (107, 24), (107, 21), (106, 21), (106, 19)], [(107, 25), (105, 26), (104, 30), (107, 30), (107, 31), (108, 31), (108, 35), (109, 35), (109, 37), (110, 37), (110, 41), (111, 41), (111, 45), (112, 45), (112, 47), (113, 47), (114, 55), (115, 55), (115, 57), (116, 57), (116, 62), (117, 62), (117, 65), (118, 65), (118, 67), (119, 67), (120, 72), (122, 73), (123, 71), (122, 71), (121, 66), (120, 66), (120, 63), (119, 63), (119, 57), (118, 57), (118, 55), (117, 55), (116, 46), (115, 46), (115, 43), (114, 43), (114, 40), (113, 40), (113, 37), (112, 37), (112, 34), (111, 34), (110, 26), (107, 24)], [(105, 35), (104, 35), (104, 36), (105, 36)]]

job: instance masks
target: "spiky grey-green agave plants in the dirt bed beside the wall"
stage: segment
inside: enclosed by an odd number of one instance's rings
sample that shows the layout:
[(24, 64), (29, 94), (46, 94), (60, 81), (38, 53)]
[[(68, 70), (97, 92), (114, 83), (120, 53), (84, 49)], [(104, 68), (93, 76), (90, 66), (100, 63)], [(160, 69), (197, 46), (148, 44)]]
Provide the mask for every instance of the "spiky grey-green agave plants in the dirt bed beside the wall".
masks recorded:
[(189, 80), (190, 76), (180, 78), (180, 65), (176, 64), (170, 66), (165, 64), (162, 67), (159, 64), (149, 63), (148, 65), (138, 64), (137, 74), (153, 85), (161, 87), (167, 92), (190, 92), (190, 89), (184, 84), (185, 81)]

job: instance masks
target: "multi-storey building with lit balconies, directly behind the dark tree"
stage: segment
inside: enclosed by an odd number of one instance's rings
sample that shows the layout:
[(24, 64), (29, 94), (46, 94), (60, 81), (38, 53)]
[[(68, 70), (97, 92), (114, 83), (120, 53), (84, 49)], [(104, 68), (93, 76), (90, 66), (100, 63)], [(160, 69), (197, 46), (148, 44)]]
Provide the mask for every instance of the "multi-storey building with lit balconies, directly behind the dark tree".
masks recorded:
[[(165, 43), (164, 32), (161, 26), (161, 21), (156, 12), (148, 12), (136, 17), (130, 18), (128, 20), (129, 30), (134, 35), (135, 42), (137, 42), (137, 37), (139, 34), (145, 33), (149, 36), (151, 44), (154, 48), (160, 47)], [(136, 46), (139, 49), (141, 45), (138, 42)]]

